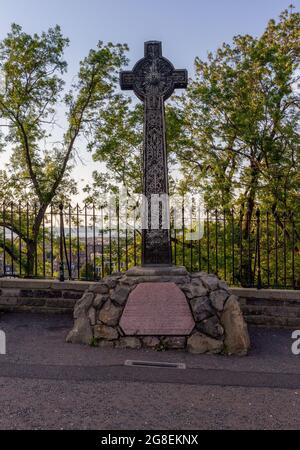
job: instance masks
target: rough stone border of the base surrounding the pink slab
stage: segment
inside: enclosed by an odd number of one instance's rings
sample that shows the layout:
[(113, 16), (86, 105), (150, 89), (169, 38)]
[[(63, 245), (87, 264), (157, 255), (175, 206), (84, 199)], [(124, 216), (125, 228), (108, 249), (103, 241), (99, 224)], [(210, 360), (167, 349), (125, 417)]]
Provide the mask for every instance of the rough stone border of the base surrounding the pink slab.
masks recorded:
[[(195, 327), (189, 336), (125, 336), (120, 327), (130, 293), (140, 283), (175, 283), (185, 294)], [(246, 355), (250, 340), (238, 298), (213, 274), (185, 268), (135, 268), (90, 286), (74, 309), (67, 342), (101, 347), (186, 349), (191, 353)]]

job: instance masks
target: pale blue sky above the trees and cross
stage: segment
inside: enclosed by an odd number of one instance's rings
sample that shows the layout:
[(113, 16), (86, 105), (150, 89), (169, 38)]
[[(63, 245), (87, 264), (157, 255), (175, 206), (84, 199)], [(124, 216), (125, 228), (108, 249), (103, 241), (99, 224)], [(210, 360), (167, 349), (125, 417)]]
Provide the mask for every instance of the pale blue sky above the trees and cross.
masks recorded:
[[(175, 68), (193, 75), (196, 56), (205, 58), (237, 34), (259, 36), (270, 18), (276, 18), (291, 0), (0, 0), (0, 39), (11, 23), (27, 33), (41, 32), (58, 24), (70, 39), (66, 51), (68, 78), (99, 40), (127, 43), (130, 66), (143, 56), (143, 43), (159, 40), (163, 54)], [(293, 0), (300, 10), (300, 0)], [(74, 177), (79, 186), (91, 180), (100, 167), (80, 148)], [(8, 154), (1, 155), (0, 168)], [(79, 199), (82, 195), (79, 196)]]

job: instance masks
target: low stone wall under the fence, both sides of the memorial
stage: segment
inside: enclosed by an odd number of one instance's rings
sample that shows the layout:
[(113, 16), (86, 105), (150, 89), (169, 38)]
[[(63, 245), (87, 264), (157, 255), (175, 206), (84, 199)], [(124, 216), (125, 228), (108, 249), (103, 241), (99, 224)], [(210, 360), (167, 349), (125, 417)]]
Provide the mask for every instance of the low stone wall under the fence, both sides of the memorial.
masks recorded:
[[(67, 313), (90, 285), (82, 281), (0, 279), (0, 311)], [(300, 290), (231, 288), (251, 325), (300, 328)]]

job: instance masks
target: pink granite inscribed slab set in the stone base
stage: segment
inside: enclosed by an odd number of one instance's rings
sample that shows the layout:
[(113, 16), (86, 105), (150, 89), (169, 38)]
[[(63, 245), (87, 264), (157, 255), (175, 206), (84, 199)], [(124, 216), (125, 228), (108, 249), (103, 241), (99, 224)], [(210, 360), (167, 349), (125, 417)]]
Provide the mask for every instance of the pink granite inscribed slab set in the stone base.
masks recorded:
[(175, 283), (141, 283), (129, 295), (120, 326), (127, 336), (187, 336), (195, 322)]

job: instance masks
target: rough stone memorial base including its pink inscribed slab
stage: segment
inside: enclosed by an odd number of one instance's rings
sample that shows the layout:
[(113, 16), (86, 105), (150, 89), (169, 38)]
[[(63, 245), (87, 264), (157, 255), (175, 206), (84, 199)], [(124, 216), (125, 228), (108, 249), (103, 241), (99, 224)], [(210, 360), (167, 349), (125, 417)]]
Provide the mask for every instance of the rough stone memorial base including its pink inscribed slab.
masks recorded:
[(224, 281), (184, 267), (134, 267), (91, 286), (67, 342), (246, 355), (247, 325)]

